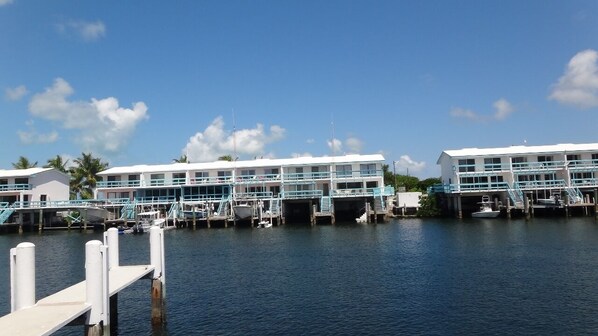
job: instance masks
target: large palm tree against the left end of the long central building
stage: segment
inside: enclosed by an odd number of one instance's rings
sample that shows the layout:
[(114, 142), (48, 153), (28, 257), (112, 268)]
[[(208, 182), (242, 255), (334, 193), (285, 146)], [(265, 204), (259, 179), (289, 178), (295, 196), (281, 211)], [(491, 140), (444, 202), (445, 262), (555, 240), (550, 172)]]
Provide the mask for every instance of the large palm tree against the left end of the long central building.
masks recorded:
[(93, 198), (93, 189), (100, 179), (98, 173), (108, 168), (108, 163), (94, 158), (91, 153), (81, 153), (81, 157), (73, 160), (75, 167), (71, 173), (71, 197), (79, 195), (83, 199)]

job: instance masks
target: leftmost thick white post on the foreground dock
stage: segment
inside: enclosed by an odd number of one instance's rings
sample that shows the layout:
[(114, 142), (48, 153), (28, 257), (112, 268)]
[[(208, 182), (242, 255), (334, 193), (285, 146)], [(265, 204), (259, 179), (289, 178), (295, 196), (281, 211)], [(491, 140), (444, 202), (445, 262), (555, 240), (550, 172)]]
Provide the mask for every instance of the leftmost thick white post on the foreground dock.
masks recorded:
[(10, 306), (15, 312), (35, 305), (35, 245), (10, 249)]

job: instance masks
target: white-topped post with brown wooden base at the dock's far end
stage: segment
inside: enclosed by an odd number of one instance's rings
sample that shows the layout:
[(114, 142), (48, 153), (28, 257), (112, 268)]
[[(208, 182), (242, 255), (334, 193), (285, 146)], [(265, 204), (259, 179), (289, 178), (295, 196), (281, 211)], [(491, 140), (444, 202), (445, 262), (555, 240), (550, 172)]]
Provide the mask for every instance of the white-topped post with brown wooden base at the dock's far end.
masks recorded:
[(164, 230), (159, 227), (150, 228), (150, 263), (154, 266), (152, 276), (152, 325), (166, 322), (164, 297), (166, 296)]

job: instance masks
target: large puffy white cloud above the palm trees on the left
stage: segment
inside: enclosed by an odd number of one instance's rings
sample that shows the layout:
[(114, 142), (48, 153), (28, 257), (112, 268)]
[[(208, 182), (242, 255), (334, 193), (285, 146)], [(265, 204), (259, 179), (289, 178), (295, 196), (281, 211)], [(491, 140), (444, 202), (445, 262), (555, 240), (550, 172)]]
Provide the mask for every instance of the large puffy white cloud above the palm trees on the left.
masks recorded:
[(78, 131), (77, 141), (86, 150), (117, 152), (133, 135), (137, 124), (147, 119), (145, 103), (122, 108), (114, 97), (69, 101), (73, 88), (62, 78), (42, 93), (33, 96), (29, 112), (38, 118), (54, 121), (65, 129)]

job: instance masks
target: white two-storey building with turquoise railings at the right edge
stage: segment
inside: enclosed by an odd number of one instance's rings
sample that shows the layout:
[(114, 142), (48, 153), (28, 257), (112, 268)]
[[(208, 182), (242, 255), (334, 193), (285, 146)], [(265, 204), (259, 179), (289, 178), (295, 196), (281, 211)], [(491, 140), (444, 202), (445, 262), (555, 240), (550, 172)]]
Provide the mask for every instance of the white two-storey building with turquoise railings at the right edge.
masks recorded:
[(598, 187), (598, 143), (446, 150), (437, 163), (442, 192), (501, 193), (516, 207), (524, 193), (561, 192), (575, 203)]

